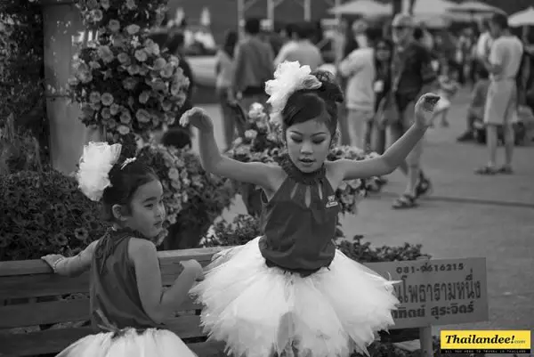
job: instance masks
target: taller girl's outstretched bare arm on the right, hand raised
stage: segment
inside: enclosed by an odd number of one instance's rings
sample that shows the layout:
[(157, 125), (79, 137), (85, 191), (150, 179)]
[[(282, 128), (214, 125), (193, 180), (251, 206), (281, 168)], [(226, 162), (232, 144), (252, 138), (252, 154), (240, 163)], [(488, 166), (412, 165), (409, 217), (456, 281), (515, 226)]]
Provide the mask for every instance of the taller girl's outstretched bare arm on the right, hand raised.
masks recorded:
[(341, 180), (353, 180), (391, 174), (425, 135), (433, 118), (433, 108), (439, 98), (432, 93), (427, 93), (419, 98), (416, 103), (414, 125), (409, 128), (406, 134), (402, 135), (401, 139), (394, 142), (388, 150), (385, 150), (383, 155), (360, 161), (341, 159), (332, 162), (336, 176), (339, 175)]

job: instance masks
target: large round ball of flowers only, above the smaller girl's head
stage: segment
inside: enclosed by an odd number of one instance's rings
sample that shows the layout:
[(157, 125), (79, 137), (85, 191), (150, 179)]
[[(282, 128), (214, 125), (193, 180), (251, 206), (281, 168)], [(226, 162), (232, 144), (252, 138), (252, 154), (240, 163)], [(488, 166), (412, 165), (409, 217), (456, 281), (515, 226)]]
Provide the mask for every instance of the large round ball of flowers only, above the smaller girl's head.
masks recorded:
[(85, 126), (103, 127), (113, 142), (130, 133), (148, 141), (151, 132), (174, 123), (189, 79), (178, 58), (160, 53), (137, 25), (124, 31), (109, 44), (97, 41), (81, 48), (69, 86), (73, 99), (82, 104)]

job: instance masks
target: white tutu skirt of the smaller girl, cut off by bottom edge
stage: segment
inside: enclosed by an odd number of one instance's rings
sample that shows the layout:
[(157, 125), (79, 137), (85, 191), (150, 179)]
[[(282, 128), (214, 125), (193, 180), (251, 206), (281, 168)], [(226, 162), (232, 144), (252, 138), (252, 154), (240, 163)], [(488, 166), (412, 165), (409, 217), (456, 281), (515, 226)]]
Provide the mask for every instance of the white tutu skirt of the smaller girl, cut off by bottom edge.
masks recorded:
[(80, 338), (57, 357), (197, 357), (180, 337), (165, 329), (138, 333), (125, 329), (121, 336), (101, 332)]

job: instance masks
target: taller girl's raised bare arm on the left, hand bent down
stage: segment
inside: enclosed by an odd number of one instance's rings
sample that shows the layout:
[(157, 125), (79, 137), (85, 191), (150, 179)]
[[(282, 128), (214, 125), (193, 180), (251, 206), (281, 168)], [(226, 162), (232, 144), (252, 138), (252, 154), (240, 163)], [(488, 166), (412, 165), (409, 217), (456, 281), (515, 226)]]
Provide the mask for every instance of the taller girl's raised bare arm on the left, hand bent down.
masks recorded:
[(193, 108), (182, 119), (189, 120), (192, 126), (198, 128), (200, 160), (207, 172), (243, 183), (254, 183), (266, 191), (275, 190), (273, 177), (278, 173), (275, 166), (260, 162), (239, 162), (221, 154), (215, 142), (212, 119), (206, 111)]

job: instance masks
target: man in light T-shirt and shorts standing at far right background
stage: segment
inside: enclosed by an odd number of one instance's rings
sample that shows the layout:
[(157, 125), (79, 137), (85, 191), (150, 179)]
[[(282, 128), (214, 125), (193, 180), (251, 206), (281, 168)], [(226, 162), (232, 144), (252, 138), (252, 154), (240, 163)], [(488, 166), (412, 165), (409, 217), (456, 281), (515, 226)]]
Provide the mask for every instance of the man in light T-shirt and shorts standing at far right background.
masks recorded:
[[(484, 60), (490, 72), (490, 87), (484, 109), (488, 164), (475, 170), (476, 174), (512, 174), (514, 152), (514, 119), (517, 117), (517, 75), (521, 68), (523, 46), (508, 28), (506, 15), (496, 13), (490, 21), (494, 38), (490, 56)], [(505, 165), (497, 167), (498, 127), (505, 137)]]

